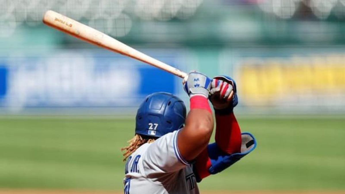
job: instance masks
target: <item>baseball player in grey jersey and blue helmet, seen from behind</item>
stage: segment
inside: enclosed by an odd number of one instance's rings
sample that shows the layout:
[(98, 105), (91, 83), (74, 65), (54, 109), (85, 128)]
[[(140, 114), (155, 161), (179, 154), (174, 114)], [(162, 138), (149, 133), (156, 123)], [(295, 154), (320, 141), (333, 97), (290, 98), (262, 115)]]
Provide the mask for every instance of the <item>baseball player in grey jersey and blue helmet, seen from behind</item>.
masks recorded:
[[(122, 148), (125, 194), (198, 194), (197, 182), (230, 167), (253, 151), (256, 140), (242, 133), (233, 113), (236, 83), (191, 72), (184, 84), (190, 111), (169, 93), (147, 96), (136, 115), (135, 137)], [(232, 97), (230, 94), (234, 93)], [(216, 142), (209, 144), (215, 110)]]

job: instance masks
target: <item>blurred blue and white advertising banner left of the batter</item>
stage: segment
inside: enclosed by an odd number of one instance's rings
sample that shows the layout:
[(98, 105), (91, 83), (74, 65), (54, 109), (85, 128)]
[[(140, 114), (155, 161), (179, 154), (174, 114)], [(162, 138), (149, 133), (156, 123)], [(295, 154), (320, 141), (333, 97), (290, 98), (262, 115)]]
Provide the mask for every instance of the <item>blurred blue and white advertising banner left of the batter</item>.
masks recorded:
[[(177, 52), (147, 52), (171, 66), (185, 67), (177, 64)], [(180, 78), (97, 49), (2, 59), (0, 108), (135, 107), (150, 93), (180, 91)]]

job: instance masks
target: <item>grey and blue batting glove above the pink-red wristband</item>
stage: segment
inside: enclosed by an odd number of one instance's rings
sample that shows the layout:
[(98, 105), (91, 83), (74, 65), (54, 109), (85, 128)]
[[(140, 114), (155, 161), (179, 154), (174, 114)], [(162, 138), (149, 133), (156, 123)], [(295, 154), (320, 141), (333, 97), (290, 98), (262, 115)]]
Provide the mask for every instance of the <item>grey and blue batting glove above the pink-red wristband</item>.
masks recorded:
[(199, 95), (208, 98), (210, 88), (211, 79), (199, 72), (190, 72), (184, 83), (184, 89), (189, 97)]

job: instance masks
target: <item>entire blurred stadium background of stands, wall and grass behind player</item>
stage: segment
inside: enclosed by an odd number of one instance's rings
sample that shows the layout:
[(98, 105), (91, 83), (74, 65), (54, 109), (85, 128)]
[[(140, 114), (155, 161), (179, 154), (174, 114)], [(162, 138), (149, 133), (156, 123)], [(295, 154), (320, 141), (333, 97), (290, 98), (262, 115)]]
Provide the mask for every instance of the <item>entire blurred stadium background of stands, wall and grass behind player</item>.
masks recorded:
[[(44, 26), (54, 10), (238, 82), (257, 150), (201, 191), (345, 191), (345, 0), (0, 0), (0, 190), (121, 191), (147, 94), (181, 80)], [(4, 192), (4, 193), (6, 193)]]

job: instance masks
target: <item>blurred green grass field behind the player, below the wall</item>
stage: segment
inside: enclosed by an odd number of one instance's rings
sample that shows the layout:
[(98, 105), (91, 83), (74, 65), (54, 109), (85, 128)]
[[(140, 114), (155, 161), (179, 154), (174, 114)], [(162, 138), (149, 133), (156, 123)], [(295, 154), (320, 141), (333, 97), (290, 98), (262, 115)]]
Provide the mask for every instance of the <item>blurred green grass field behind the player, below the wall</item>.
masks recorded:
[[(202, 190), (345, 190), (345, 117), (238, 116), (257, 149)], [(134, 119), (0, 118), (0, 187), (122, 190)]]

